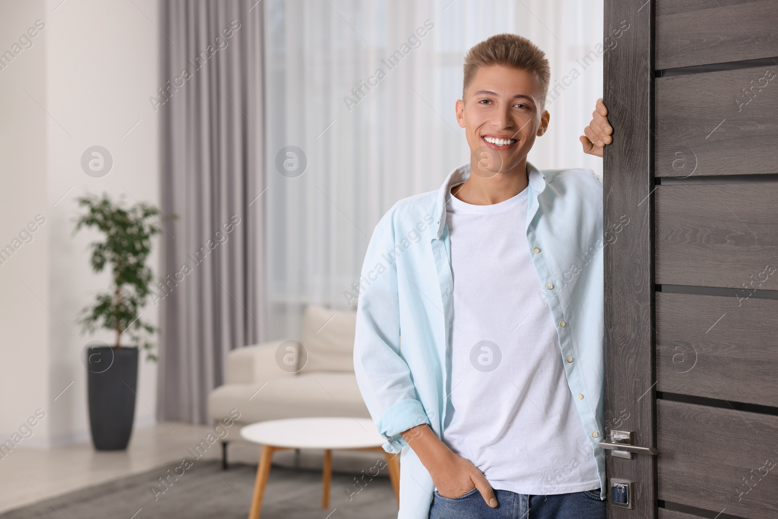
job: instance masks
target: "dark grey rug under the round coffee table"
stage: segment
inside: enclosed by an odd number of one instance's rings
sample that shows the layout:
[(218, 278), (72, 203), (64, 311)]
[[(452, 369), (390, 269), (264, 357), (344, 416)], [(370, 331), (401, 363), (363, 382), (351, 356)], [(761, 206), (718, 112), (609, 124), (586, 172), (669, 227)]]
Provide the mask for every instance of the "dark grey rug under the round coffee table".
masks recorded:
[[(195, 461), (165, 493), (159, 478), (176, 464), (124, 479), (78, 490), (64, 496), (17, 508), (2, 519), (246, 519), (254, 491), (256, 465), (230, 465), (223, 471), (216, 461)], [(273, 466), (261, 519), (371, 519), (397, 517), (398, 505), (389, 478), (356, 474), (332, 475), (330, 507), (321, 507), (321, 472)], [(368, 470), (365, 470), (367, 473)], [(181, 473), (181, 470), (178, 470)], [(373, 470), (373, 473), (375, 471)], [(156, 495), (155, 495), (156, 494)], [(156, 500), (155, 500), (156, 496)], [(337, 510), (335, 510), (337, 509)], [(138, 511), (139, 510), (139, 511)], [(335, 511), (333, 511), (335, 510)], [(133, 515), (135, 514), (135, 515)]]

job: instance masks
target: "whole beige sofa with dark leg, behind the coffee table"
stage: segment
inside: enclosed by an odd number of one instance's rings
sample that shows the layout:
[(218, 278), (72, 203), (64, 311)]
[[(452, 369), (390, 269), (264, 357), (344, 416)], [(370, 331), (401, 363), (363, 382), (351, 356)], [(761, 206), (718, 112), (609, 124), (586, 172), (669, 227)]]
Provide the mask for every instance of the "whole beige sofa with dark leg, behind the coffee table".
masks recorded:
[[(209, 395), (209, 417), (218, 422), (237, 409), (238, 427), (305, 416), (370, 418), (354, 375), (355, 328), (356, 311), (311, 305), (305, 310), (300, 342), (233, 350), (227, 358), (226, 384)], [(224, 468), (226, 443), (240, 440), (237, 428), (230, 428), (225, 440)]]

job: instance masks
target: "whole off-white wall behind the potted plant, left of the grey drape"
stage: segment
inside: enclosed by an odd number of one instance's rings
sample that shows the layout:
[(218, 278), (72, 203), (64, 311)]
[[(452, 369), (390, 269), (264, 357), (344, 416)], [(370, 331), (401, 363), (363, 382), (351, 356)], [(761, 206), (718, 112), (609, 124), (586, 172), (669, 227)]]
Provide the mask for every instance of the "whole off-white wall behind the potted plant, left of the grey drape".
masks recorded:
[[(0, 413), (0, 439), (40, 407), (47, 412), (41, 423), (46, 428), (27, 444), (51, 445), (89, 438), (82, 349), (94, 339), (113, 343), (110, 332), (89, 335), (77, 322), (80, 310), (107, 288), (109, 279), (107, 272), (96, 275), (89, 266), (87, 247), (96, 233), (73, 234), (73, 219), (83, 210), (75, 199), (106, 192), (128, 205), (137, 199), (159, 206), (159, 115), (149, 96), (161, 86), (159, 38), (165, 36), (157, 27), (157, 0), (14, 0), (0, 3), (0, 33), (5, 35), (0, 48), (9, 47), (9, 35), (21, 34), (36, 19), (45, 29), (34, 46), (0, 71), (0, 92), (9, 101), (3, 105), (16, 109), (16, 124), (2, 125), (4, 133), (13, 135), (0, 145), (9, 157), (3, 183), (10, 183), (0, 194), (0, 243), (37, 212), (46, 217), (33, 242), (0, 265), (0, 287), (12, 294), (0, 303), (2, 350), (12, 360), (0, 363), (0, 395), (3, 409), (9, 410)], [(12, 70), (16, 65), (18, 70)], [(30, 126), (26, 136), (14, 133), (22, 125)], [(96, 145), (113, 156), (105, 177), (89, 177), (81, 167), (84, 150)], [(158, 238), (150, 263), (159, 274)], [(14, 279), (12, 268), (40, 301)], [(156, 307), (149, 303), (143, 317), (157, 324)], [(34, 389), (26, 391), (30, 386)], [(142, 359), (136, 426), (155, 420), (155, 395), (156, 364)]]

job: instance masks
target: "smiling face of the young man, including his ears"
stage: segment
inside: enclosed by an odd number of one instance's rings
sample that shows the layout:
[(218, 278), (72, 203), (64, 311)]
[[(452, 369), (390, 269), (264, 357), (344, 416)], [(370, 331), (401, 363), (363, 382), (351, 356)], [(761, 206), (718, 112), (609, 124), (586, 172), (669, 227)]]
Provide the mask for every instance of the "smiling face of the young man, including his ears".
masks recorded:
[(535, 137), (548, 128), (548, 112), (540, 101), (534, 72), (502, 65), (478, 68), (465, 99), (456, 105), (471, 160), (480, 169), (471, 173), (493, 177), (520, 165)]

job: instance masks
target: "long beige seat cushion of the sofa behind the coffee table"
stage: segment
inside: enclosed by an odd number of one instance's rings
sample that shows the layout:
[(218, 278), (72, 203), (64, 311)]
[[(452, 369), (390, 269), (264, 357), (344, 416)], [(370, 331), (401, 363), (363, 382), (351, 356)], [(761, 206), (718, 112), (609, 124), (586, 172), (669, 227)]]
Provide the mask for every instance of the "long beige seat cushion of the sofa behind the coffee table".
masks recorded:
[(262, 384), (216, 387), (208, 398), (209, 416), (220, 420), (237, 409), (244, 424), (306, 416), (370, 418), (354, 373), (301, 373)]

